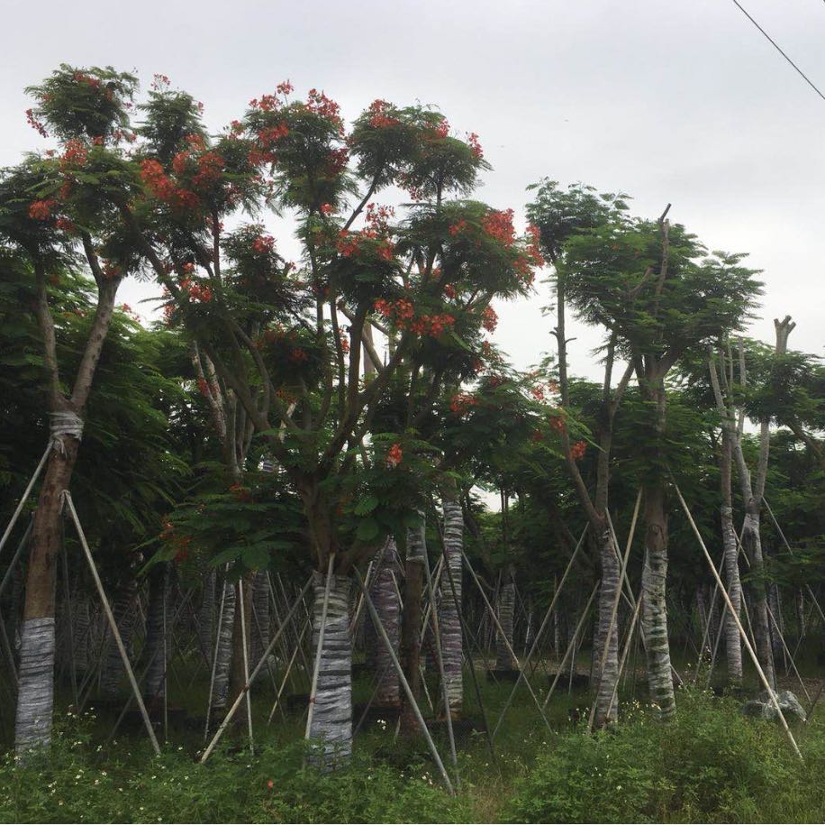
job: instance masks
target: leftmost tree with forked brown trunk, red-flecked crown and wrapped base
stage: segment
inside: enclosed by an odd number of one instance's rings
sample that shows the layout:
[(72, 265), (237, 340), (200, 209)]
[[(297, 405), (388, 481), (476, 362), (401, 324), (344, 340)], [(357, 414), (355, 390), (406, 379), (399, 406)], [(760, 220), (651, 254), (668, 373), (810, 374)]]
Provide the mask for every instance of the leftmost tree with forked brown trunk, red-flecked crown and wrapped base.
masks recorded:
[[(54, 590), (62, 492), (77, 462), (83, 415), (122, 278), (137, 266), (114, 219), (113, 197), (129, 197), (134, 180), (121, 143), (135, 78), (113, 69), (62, 66), (30, 93), (29, 119), (48, 130), (60, 154), (32, 156), (0, 180), (0, 236), (25, 256), (37, 283), (35, 313), (48, 376), (50, 450), (32, 527), (21, 627), (20, 689), (15, 722), (19, 752), (50, 741), (54, 669)], [(61, 373), (49, 280), (84, 267), (95, 280), (94, 321), (73, 380)], [(66, 382), (64, 383), (64, 380)]]

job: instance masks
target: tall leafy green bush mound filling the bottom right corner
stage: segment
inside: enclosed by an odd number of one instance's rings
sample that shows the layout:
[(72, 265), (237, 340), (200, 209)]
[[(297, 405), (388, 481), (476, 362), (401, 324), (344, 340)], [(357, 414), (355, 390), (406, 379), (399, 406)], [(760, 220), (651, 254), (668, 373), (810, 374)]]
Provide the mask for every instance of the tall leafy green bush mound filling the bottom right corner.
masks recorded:
[(747, 720), (735, 701), (681, 692), (671, 724), (631, 710), (615, 731), (554, 737), (517, 784), (505, 818), (787, 821), (793, 800), (798, 815), (801, 806), (803, 819), (815, 821), (825, 810), (819, 758), (801, 765), (775, 725)]

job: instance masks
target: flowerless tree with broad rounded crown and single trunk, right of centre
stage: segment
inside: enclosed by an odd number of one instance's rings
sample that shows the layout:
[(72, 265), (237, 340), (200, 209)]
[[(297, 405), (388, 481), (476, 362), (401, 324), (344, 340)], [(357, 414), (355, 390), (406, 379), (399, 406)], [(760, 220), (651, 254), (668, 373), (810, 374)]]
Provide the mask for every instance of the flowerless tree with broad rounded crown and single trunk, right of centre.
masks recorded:
[(741, 266), (741, 255), (707, 256), (694, 235), (669, 224), (667, 211), (657, 221), (617, 215), (577, 234), (560, 268), (578, 315), (615, 332), (618, 352), (632, 364), (648, 407), (642, 629), (650, 695), (663, 719), (675, 713), (665, 600), (666, 378), (685, 353), (739, 330), (760, 290), (755, 271)]

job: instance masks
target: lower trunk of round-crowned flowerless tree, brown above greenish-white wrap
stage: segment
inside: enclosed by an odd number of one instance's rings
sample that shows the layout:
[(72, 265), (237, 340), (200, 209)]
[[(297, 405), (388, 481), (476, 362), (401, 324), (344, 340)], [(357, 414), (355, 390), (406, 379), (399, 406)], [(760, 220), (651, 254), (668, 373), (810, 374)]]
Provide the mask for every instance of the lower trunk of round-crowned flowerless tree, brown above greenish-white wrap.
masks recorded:
[(646, 484), (645, 497), (645, 564), (642, 568), (642, 629), (648, 656), (650, 701), (659, 709), (663, 720), (676, 711), (670, 645), (667, 639), (665, 584), (667, 578), (667, 517), (665, 490), (661, 484)]

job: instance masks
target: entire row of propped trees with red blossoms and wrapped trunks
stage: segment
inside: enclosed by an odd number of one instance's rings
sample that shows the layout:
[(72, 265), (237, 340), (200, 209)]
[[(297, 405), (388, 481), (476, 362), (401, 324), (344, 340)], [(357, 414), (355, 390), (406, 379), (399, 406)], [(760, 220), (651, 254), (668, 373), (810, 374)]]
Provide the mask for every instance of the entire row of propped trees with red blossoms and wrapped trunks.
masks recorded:
[[(592, 637), (592, 721), (617, 720), (637, 619), (664, 719), (677, 637), (697, 655), (723, 637), (733, 682), (751, 638), (775, 688), (790, 626), (825, 622), (825, 371), (788, 349), (789, 318), (771, 345), (741, 337), (757, 272), (708, 253), (669, 206), (643, 219), (624, 196), (550, 180), (520, 235), (512, 210), (470, 198), (489, 169), (475, 134), (383, 100), (348, 126), (324, 94), (293, 91), (210, 134), (160, 76), (140, 103), (113, 69), (61, 66), (29, 89), (52, 148), (0, 180), (2, 512), (32, 513), (0, 558), (18, 750), (49, 741), (56, 677), (76, 701), (122, 686), (138, 626), (153, 710), (177, 621), (213, 710), (300, 660), (307, 736), (340, 756), (362, 626), (379, 700), (410, 734), (425, 662), (440, 684), (427, 701), (450, 719), (467, 665), (474, 680), (479, 663), (520, 672), (533, 693), (525, 661), (562, 636), (574, 651)], [(280, 246), (272, 213), (292, 225)], [(118, 307), (127, 278), (162, 289), (151, 329)], [(491, 343), (493, 303), (536, 294), (556, 345), (525, 373)], [(571, 314), (603, 332), (602, 380), (568, 371)], [(98, 572), (108, 625), (90, 619)]]

